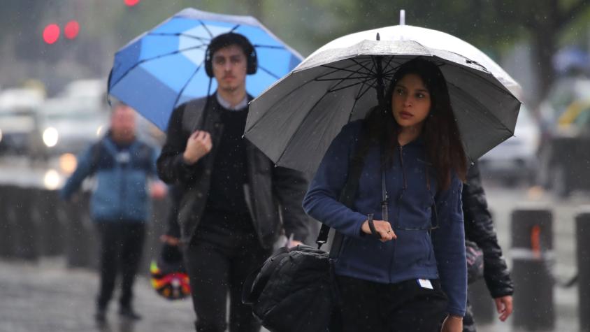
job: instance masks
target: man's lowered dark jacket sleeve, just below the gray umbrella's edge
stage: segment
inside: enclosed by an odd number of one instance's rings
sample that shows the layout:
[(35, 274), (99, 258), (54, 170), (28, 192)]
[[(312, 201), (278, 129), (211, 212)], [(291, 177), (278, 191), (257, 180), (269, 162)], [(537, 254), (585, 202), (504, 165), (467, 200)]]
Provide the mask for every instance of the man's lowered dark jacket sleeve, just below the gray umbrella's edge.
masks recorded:
[(308, 180), (303, 173), (284, 167), (273, 168), (273, 190), (281, 209), (285, 234), (293, 234), (294, 240), (303, 242), (308, 237), (310, 219), (301, 202), (308, 189)]

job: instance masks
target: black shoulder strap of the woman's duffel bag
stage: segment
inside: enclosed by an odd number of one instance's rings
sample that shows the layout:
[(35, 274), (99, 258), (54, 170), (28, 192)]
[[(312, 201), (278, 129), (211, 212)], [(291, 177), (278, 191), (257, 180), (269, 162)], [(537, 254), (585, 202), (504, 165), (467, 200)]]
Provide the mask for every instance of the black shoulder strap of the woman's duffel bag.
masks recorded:
[[(365, 131), (361, 131), (361, 135), (359, 136), (359, 145), (350, 157), (350, 162), (348, 166), (348, 177), (346, 183), (343, 187), (342, 192), (340, 192), (340, 203), (343, 203), (347, 207), (352, 207), (354, 203), (354, 196), (357, 194), (357, 189), (359, 189), (359, 180), (361, 178), (361, 172), (363, 171), (363, 167), (365, 164), (365, 156), (368, 152), (370, 140), (366, 137)], [(319, 234), (317, 235), (317, 248), (320, 249), (324, 243), (328, 242), (328, 236), (330, 232), (330, 226), (326, 224), (322, 224), (322, 228), (319, 229)], [(342, 246), (343, 235), (336, 231), (334, 233), (334, 239), (332, 241), (332, 247), (330, 249), (330, 258), (336, 259), (338, 258), (338, 254), (340, 253), (340, 247)]]

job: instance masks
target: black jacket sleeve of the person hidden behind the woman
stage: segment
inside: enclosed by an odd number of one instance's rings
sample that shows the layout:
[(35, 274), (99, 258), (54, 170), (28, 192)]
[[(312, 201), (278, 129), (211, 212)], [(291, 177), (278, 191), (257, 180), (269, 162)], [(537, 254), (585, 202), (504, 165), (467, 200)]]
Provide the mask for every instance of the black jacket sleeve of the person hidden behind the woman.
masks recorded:
[(512, 295), (514, 285), (498, 245), (477, 164), (470, 167), (467, 182), (463, 186), (463, 215), (466, 238), (475, 242), (484, 252), (484, 279), (491, 296), (498, 298)]

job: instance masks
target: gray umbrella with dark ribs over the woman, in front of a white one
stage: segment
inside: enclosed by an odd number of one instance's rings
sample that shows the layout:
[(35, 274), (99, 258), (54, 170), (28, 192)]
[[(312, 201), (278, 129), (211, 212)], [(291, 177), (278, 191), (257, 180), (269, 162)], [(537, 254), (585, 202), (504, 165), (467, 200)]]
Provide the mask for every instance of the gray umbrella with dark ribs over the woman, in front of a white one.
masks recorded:
[(245, 137), (278, 166), (313, 173), (340, 129), (364, 118), (382, 82), (416, 57), (435, 62), (445, 76), (470, 159), (512, 136), (520, 101), (481, 64), (415, 41), (364, 40), (315, 52), (254, 99)]

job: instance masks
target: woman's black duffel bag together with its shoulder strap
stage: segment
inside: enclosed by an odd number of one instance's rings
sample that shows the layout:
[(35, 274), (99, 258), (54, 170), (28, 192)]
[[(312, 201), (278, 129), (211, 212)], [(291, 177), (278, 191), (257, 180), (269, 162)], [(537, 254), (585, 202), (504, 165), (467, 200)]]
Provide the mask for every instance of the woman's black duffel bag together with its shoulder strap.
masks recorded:
[[(340, 202), (352, 206), (368, 151), (368, 140), (361, 136), (352, 154), (348, 178)], [(340, 331), (340, 310), (333, 262), (343, 236), (335, 231), (330, 252), (319, 248), (328, 240), (330, 228), (322, 225), (317, 249), (307, 245), (282, 247), (245, 280), (242, 301), (252, 305), (254, 315), (271, 332)]]

